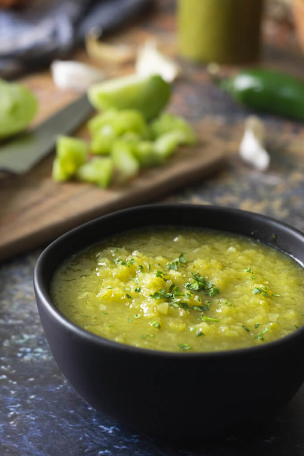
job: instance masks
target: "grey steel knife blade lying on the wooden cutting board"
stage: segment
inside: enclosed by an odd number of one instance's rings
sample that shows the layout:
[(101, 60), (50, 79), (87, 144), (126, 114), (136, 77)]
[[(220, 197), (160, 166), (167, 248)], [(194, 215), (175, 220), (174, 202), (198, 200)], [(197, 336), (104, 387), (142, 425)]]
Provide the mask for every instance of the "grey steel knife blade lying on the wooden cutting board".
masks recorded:
[(0, 145), (0, 171), (25, 173), (54, 149), (58, 135), (72, 133), (93, 110), (87, 95), (83, 95), (32, 131)]

